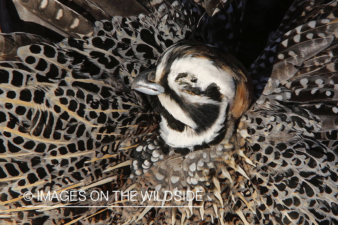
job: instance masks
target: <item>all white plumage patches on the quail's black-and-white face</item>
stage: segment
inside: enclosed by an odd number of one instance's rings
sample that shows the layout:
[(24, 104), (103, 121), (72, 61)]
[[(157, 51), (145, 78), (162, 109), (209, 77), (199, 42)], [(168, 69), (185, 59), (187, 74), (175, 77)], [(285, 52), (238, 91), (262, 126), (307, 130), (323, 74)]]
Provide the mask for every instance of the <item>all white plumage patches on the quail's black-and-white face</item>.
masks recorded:
[[(162, 62), (166, 61), (166, 55)], [(164, 63), (157, 67), (156, 78), (158, 72), (162, 73)], [(189, 76), (177, 79), (180, 74), (188, 74)], [(182, 76), (182, 75), (181, 75)], [(189, 79), (194, 79), (193, 82), (187, 82)], [(168, 74), (168, 85), (175, 91), (175, 93), (183, 98), (188, 103), (216, 104), (220, 107), (219, 114), (213, 125), (207, 130), (197, 133), (194, 129), (198, 124), (189, 116), (189, 113), (182, 110), (182, 108), (165, 94), (159, 94), (159, 100), (163, 107), (177, 120), (188, 125), (183, 132), (171, 129), (166, 118), (162, 116), (160, 123), (160, 134), (164, 141), (172, 147), (188, 147), (192, 148), (194, 145), (209, 143), (217, 135), (218, 131), (223, 127), (223, 122), (226, 118), (226, 109), (231, 107), (235, 97), (235, 82), (233, 76), (228, 71), (223, 71), (216, 67), (212, 61), (201, 57), (184, 57), (176, 59)], [(222, 101), (218, 102), (212, 100), (206, 95), (197, 95), (188, 91), (185, 88), (191, 85), (193, 88), (198, 88), (202, 92), (206, 91), (209, 85), (215, 83), (219, 87), (222, 94)]]

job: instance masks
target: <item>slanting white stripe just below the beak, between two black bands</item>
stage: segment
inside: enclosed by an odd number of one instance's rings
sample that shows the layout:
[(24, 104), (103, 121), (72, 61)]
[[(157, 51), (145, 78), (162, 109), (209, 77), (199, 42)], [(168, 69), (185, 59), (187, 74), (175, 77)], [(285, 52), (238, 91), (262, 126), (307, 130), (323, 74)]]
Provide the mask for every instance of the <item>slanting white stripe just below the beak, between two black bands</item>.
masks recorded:
[(182, 110), (179, 105), (172, 101), (170, 97), (166, 96), (165, 94), (157, 95), (162, 106), (177, 120), (183, 122), (184, 124), (190, 126), (191, 128), (197, 128), (196, 123), (189, 117), (187, 117), (187, 113)]

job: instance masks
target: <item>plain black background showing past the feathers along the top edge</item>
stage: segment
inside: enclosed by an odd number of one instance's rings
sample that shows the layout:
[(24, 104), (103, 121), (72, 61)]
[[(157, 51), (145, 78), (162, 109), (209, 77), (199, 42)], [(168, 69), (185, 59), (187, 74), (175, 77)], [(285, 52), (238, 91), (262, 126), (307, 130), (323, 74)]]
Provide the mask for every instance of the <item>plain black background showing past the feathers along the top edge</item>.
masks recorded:
[[(69, 3), (68, 0), (61, 0)], [(237, 58), (249, 67), (264, 49), (268, 36), (276, 31), (294, 0), (247, 0), (243, 16), (241, 45)], [(60, 41), (63, 36), (50, 29), (20, 20), (11, 0), (0, 0), (0, 28), (3, 33), (26, 32)]]

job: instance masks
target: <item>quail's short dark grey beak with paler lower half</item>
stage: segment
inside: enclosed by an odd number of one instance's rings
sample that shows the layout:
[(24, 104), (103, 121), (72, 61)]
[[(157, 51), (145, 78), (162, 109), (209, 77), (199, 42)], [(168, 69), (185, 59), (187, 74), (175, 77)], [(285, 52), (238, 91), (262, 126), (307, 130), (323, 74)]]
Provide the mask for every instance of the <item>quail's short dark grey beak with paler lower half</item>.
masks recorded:
[(141, 72), (131, 83), (131, 89), (135, 89), (145, 94), (155, 95), (164, 92), (164, 87), (154, 83), (156, 68), (146, 69)]

